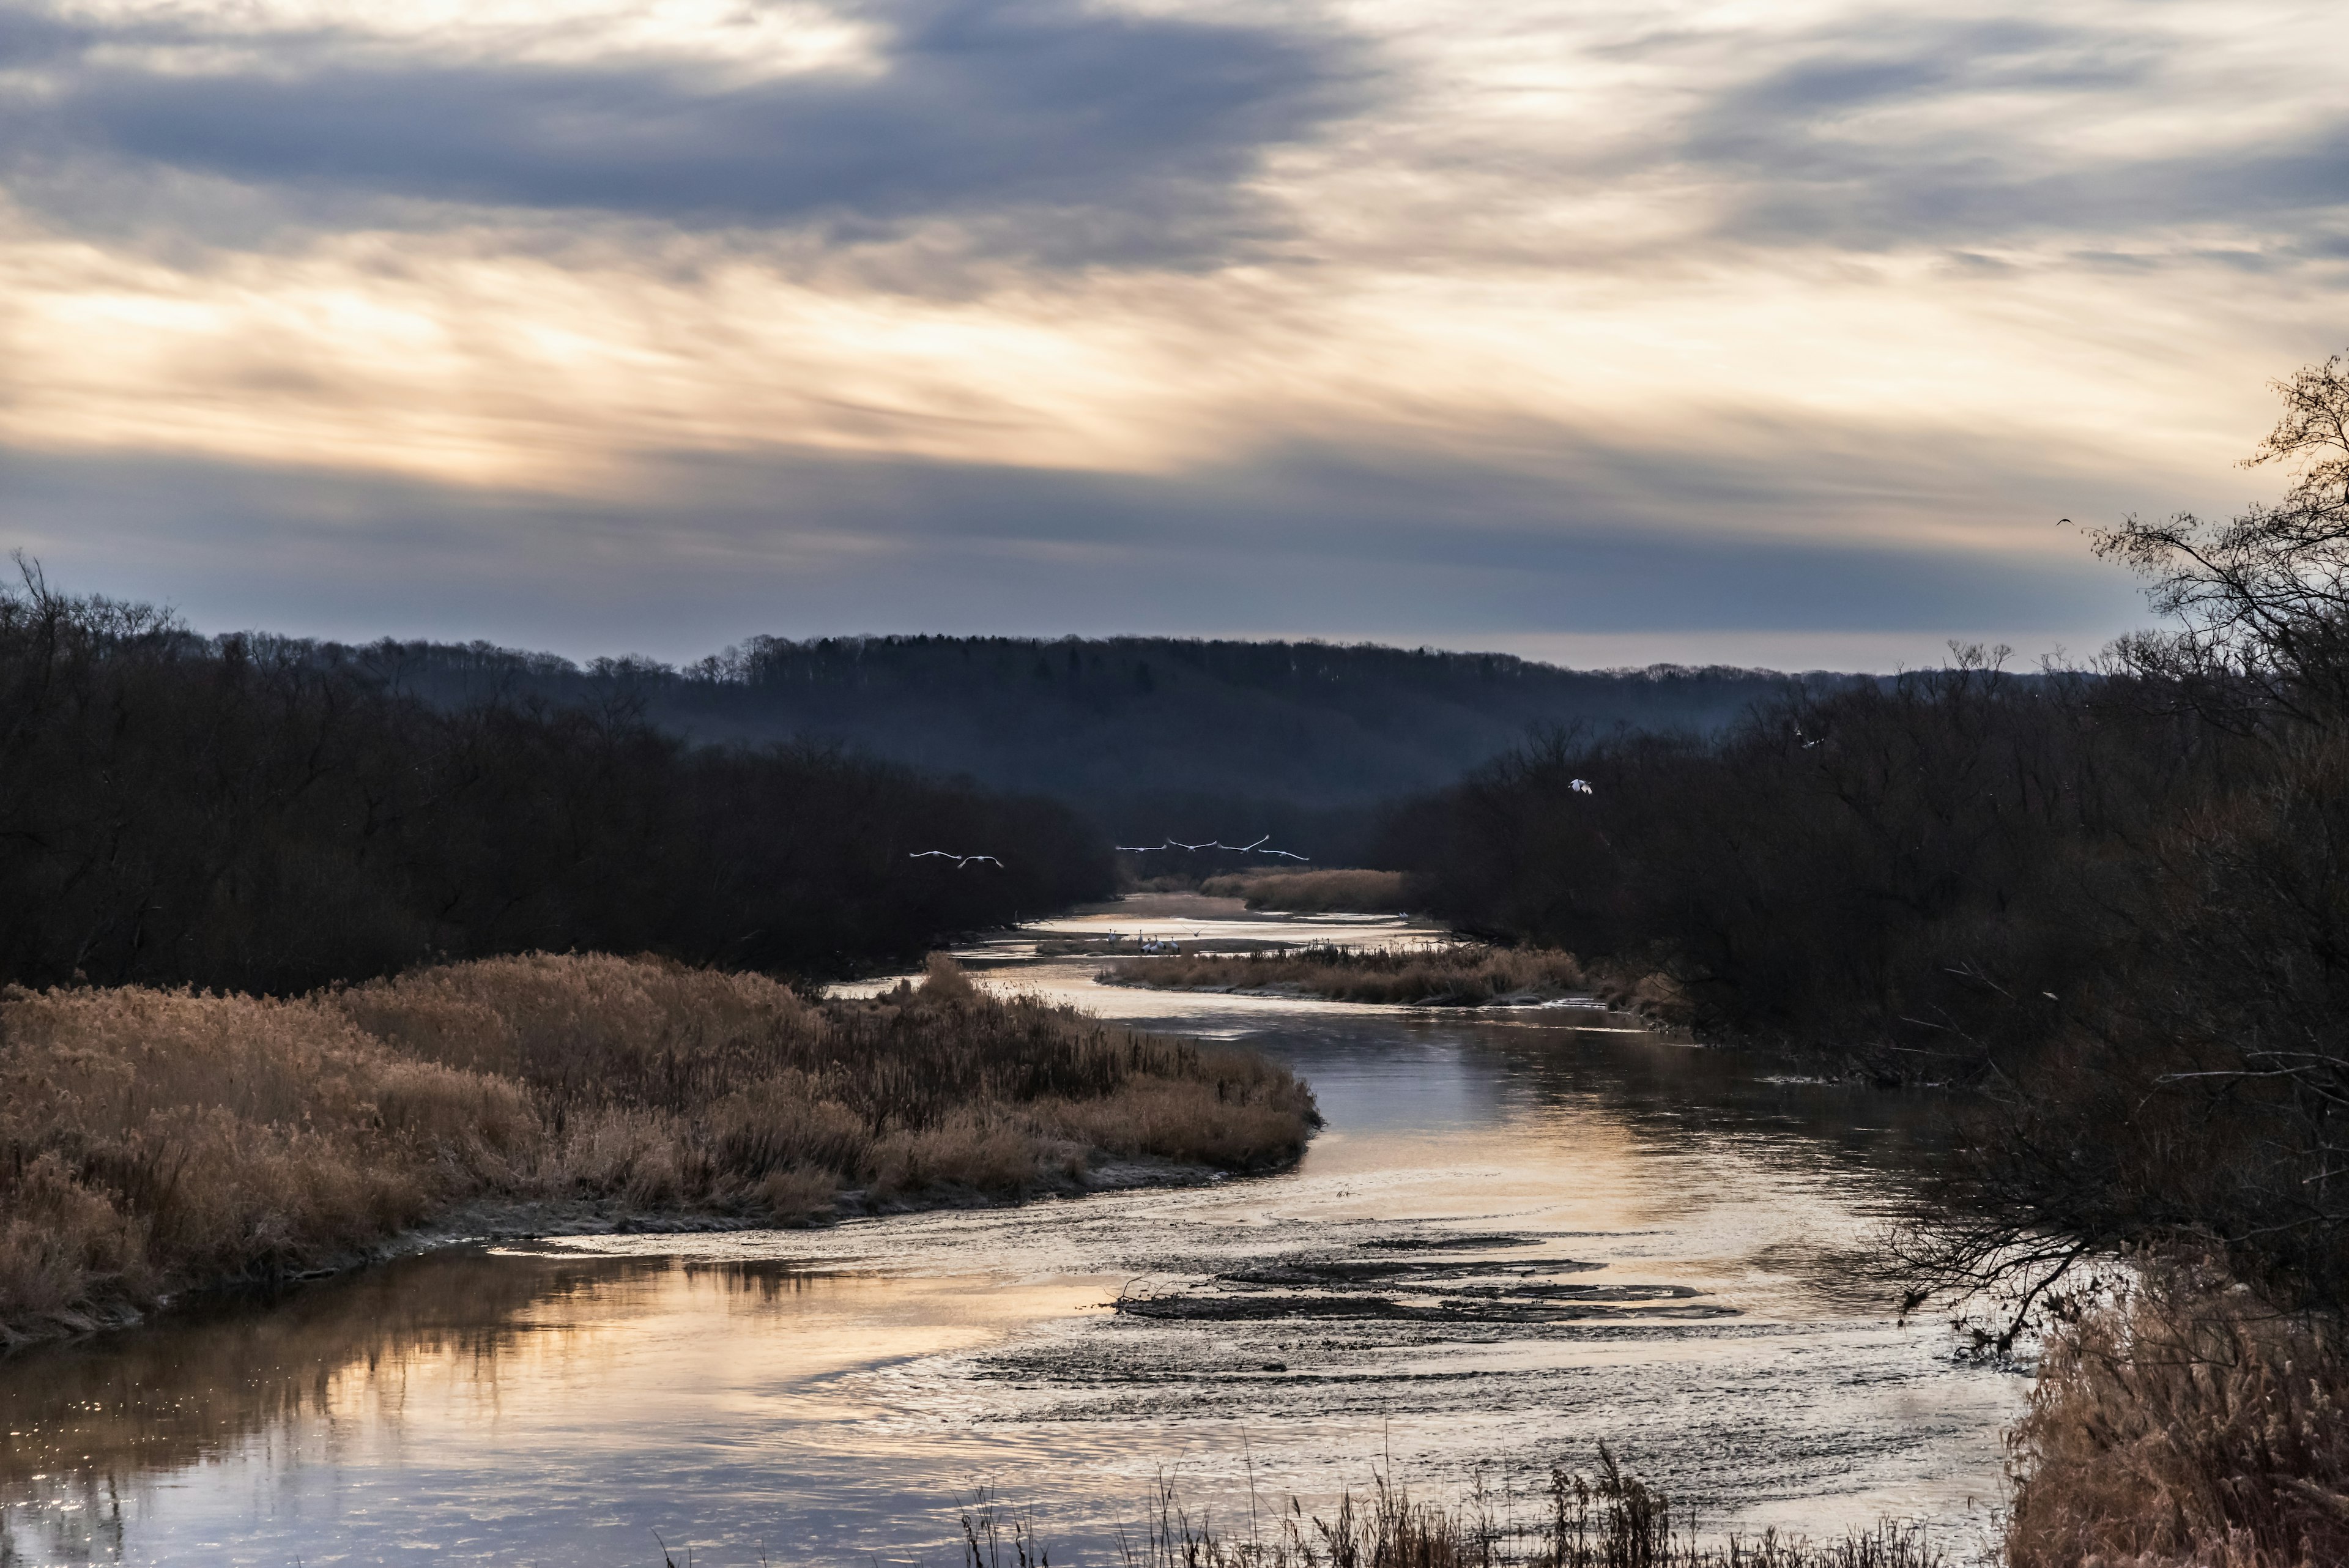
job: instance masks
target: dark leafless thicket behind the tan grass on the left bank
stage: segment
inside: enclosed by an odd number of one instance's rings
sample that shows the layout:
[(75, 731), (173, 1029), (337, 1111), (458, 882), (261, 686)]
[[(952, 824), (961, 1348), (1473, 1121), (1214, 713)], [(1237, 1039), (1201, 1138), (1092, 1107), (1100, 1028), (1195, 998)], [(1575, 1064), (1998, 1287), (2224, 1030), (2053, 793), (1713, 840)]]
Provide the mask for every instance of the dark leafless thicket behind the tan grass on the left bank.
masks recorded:
[(1052, 802), (693, 748), (625, 691), (432, 705), (362, 658), (23, 578), (0, 590), (0, 980), (282, 994), (573, 947), (839, 973), (1113, 886)]

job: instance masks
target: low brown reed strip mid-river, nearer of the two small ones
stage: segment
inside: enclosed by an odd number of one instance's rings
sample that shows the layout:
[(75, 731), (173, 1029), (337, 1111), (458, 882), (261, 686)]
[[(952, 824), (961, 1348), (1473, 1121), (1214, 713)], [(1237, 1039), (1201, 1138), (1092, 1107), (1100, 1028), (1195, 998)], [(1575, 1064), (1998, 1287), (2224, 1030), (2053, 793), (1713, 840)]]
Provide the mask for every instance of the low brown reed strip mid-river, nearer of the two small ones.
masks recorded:
[(1569, 952), (1543, 947), (1339, 947), (1313, 945), (1250, 954), (1125, 959), (1099, 973), (1111, 985), (1151, 990), (1287, 990), (1330, 1001), (1402, 1006), (1485, 1006), (1501, 997), (1569, 997), (1588, 990)]

